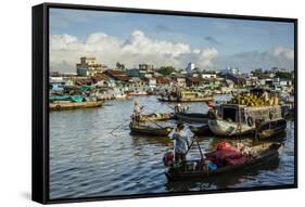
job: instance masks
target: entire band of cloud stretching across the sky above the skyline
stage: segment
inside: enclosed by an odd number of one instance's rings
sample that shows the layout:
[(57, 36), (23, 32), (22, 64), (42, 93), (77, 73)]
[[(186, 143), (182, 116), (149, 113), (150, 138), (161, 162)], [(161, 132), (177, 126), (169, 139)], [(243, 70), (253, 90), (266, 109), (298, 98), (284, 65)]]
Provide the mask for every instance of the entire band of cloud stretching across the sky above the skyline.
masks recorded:
[(191, 48), (187, 43), (152, 39), (141, 30), (132, 31), (128, 38), (118, 39), (104, 33), (90, 34), (85, 41), (67, 34), (50, 37), (51, 70), (75, 72), (80, 56), (96, 56), (99, 62), (114, 67), (116, 62), (127, 67), (137, 67), (140, 63), (173, 65), (186, 68), (189, 62), (200, 69), (223, 69), (227, 66), (249, 72), (258, 67), (274, 66), (293, 69), (292, 49), (281, 46), (263, 52), (252, 51), (221, 56), (215, 48)]

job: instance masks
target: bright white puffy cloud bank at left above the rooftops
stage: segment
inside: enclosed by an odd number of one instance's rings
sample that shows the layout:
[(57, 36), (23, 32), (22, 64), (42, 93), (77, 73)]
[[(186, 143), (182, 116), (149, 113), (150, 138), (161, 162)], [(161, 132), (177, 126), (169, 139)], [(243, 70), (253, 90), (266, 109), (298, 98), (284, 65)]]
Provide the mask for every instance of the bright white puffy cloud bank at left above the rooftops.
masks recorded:
[(51, 70), (73, 72), (80, 56), (96, 56), (99, 62), (114, 67), (116, 62), (127, 67), (139, 63), (155, 66), (174, 65), (185, 68), (192, 61), (200, 67), (214, 68), (218, 52), (214, 48), (191, 49), (187, 43), (152, 39), (141, 30), (132, 31), (126, 40), (94, 33), (81, 42), (71, 35), (52, 35), (50, 41)]

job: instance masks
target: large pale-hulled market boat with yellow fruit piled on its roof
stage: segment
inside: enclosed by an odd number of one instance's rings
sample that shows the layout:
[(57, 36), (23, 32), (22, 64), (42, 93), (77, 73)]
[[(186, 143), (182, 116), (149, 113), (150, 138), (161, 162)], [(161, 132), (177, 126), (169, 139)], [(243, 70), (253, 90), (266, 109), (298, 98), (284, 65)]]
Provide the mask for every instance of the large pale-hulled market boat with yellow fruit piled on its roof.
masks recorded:
[(215, 135), (233, 137), (259, 131), (264, 125), (275, 128), (283, 120), (281, 106), (277, 104), (277, 101), (270, 99), (266, 102), (257, 95), (238, 95), (232, 104), (214, 108), (215, 113), (211, 113), (208, 118), (209, 129)]

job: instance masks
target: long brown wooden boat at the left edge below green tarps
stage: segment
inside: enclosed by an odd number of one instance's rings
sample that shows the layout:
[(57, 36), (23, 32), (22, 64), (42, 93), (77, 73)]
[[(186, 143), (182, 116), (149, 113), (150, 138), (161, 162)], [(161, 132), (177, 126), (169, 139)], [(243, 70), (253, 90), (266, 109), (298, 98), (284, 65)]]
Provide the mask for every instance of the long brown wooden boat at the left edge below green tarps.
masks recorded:
[(78, 108), (92, 108), (102, 106), (103, 101), (86, 101), (86, 102), (53, 102), (49, 104), (50, 111), (66, 111)]

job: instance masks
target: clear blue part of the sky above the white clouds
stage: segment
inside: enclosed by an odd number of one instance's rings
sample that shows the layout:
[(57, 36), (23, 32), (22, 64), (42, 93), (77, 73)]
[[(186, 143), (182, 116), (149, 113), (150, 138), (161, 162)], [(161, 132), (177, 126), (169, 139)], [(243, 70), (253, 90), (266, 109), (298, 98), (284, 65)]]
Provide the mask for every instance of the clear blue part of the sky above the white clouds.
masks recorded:
[[(293, 51), (294, 44), (294, 25), (292, 23), (66, 9), (50, 10), (50, 34), (67, 34), (76, 37), (80, 42), (86, 42), (88, 37), (94, 33), (103, 33), (126, 41), (135, 30), (142, 31), (151, 40), (168, 41), (174, 44), (185, 43), (192, 50), (213, 48), (217, 51), (215, 62), (219, 64), (221, 62), (225, 62), (221, 64), (226, 64), (232, 55), (250, 52), (266, 54), (277, 47), (283, 49), (281, 51)], [(283, 66), (288, 67), (287, 64)], [(250, 66), (246, 67), (250, 68)]]

